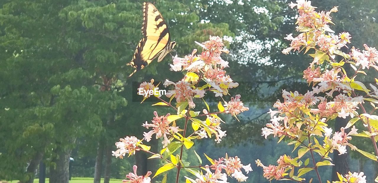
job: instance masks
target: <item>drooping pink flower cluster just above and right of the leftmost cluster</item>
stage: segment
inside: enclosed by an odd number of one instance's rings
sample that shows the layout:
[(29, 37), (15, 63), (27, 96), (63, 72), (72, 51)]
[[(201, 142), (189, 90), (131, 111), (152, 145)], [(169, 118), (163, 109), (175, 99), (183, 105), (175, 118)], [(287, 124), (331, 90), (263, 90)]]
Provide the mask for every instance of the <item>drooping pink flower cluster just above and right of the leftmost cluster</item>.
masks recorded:
[(166, 116), (158, 116), (156, 111), (153, 112), (155, 117), (153, 117), (152, 124), (148, 124), (147, 121), (143, 124), (143, 127), (149, 129), (152, 127), (152, 130), (148, 133), (144, 132), (144, 139), (149, 142), (152, 138), (153, 134), (156, 134), (156, 139), (160, 137), (164, 137), (163, 144), (167, 145), (169, 143), (169, 139), (167, 135), (174, 134), (178, 132), (178, 127), (171, 127), (170, 122), (168, 121), (167, 117), (170, 115), (169, 113)]

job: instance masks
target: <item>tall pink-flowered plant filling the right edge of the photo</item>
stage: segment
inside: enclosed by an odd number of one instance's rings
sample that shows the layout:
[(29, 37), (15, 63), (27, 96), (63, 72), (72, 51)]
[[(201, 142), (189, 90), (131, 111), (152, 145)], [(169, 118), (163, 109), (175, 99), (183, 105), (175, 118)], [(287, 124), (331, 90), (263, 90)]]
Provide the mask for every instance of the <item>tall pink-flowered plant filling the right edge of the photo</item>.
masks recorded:
[[(318, 168), (325, 165), (333, 165), (329, 153), (345, 154), (347, 146), (353, 151), (377, 161), (378, 148), (378, 116), (375, 115), (378, 104), (378, 90), (376, 84), (370, 84), (370, 88), (360, 81), (364, 70), (375, 69), (378, 71), (378, 51), (373, 47), (364, 44), (365, 50), (358, 50), (352, 47), (349, 53), (344, 53), (341, 48), (347, 47), (351, 36), (347, 32), (335, 34), (330, 29), (332, 23), (330, 14), (337, 12), (338, 7), (328, 12), (316, 12), (311, 1), (297, 0), (290, 3), (291, 8), (297, 9), (297, 27), (299, 35), (287, 35), (285, 39), (290, 40), (290, 47), (282, 52), (288, 54), (292, 50), (299, 52), (304, 50), (314, 51), (309, 54), (313, 57), (310, 66), (304, 70), (303, 78), (312, 84), (312, 91), (301, 94), (298, 91), (282, 91), (283, 101), (277, 101), (270, 110), (271, 123), (262, 128), (262, 135), (266, 137), (273, 135), (289, 140), (288, 145), (293, 145), (297, 150), (297, 157), (283, 155), (277, 160), (276, 165), (263, 165), (256, 160), (257, 166), (263, 168), (263, 176), (268, 180), (293, 180), (305, 182), (302, 175), (315, 171), (319, 182), (321, 175)], [(353, 72), (345, 69), (350, 66)], [(371, 105), (367, 106), (367, 105)], [(367, 111), (371, 108), (370, 111)], [(278, 115), (277, 115), (278, 114)], [(327, 122), (336, 117), (351, 119), (345, 127), (335, 129), (328, 127)], [(363, 123), (365, 130), (355, 128), (355, 123)], [(350, 128), (350, 131), (346, 130)], [(355, 137), (371, 139), (374, 153), (358, 149), (350, 143)], [(319, 142), (319, 141), (323, 142)], [(293, 150), (293, 151), (294, 151)], [(311, 158), (301, 160), (305, 154)], [(318, 154), (319, 156), (316, 156)], [(312, 162), (310, 164), (310, 161)], [(297, 169), (297, 173), (295, 173)], [(338, 181), (333, 183), (366, 183), (366, 176), (363, 172), (340, 175)], [(309, 180), (311, 182), (313, 179)], [(330, 181), (327, 181), (330, 182)], [(376, 179), (377, 182), (377, 179)]]

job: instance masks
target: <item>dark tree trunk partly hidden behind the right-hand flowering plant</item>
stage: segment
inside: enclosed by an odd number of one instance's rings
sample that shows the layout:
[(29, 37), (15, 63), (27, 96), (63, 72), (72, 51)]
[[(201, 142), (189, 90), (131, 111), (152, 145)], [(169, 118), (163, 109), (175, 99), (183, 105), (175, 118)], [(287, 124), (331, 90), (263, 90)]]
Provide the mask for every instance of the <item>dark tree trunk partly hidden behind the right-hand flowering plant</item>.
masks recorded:
[[(340, 131), (340, 128), (345, 127), (348, 121), (349, 119), (343, 119), (340, 117), (336, 118), (335, 131)], [(347, 132), (347, 129), (345, 129), (345, 132)], [(347, 174), (349, 170), (348, 154), (339, 155), (338, 151), (333, 151), (333, 164), (335, 164), (335, 166), (332, 166), (332, 180), (337, 181), (339, 180), (337, 172), (344, 175)]]

